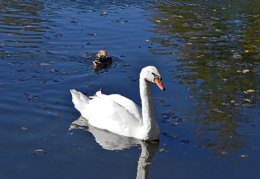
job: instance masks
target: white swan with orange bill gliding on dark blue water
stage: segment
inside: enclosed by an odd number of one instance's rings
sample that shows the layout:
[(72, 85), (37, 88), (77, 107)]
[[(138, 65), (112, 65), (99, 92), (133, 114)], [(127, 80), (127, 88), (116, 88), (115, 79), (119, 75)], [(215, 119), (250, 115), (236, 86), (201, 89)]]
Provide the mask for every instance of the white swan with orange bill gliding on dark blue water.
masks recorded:
[(159, 126), (153, 112), (151, 83), (165, 90), (157, 68), (146, 66), (140, 72), (142, 109), (119, 94), (105, 95), (100, 90), (90, 99), (76, 90), (70, 92), (75, 108), (92, 126), (127, 137), (153, 141), (159, 139)]

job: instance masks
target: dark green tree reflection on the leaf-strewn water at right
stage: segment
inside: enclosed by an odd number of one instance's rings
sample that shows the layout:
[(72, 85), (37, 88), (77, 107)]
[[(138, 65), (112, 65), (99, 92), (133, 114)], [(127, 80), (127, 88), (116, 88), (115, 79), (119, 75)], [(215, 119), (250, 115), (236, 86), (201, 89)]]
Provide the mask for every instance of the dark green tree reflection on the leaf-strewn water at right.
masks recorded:
[(151, 41), (159, 46), (150, 51), (173, 54), (180, 63), (172, 80), (187, 85), (196, 100), (197, 147), (211, 148), (213, 155), (234, 153), (255, 134), (259, 9), (257, 1), (168, 1), (151, 18), (157, 34)]

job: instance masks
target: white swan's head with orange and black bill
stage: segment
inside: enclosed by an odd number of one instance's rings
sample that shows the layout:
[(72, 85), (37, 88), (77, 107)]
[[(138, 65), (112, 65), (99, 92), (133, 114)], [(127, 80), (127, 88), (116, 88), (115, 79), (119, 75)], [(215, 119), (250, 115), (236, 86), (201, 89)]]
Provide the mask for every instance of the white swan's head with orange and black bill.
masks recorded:
[(146, 66), (145, 68), (143, 68), (140, 73), (140, 78), (144, 78), (147, 81), (156, 83), (162, 91), (165, 91), (165, 87), (161, 83), (161, 74), (154, 66)]

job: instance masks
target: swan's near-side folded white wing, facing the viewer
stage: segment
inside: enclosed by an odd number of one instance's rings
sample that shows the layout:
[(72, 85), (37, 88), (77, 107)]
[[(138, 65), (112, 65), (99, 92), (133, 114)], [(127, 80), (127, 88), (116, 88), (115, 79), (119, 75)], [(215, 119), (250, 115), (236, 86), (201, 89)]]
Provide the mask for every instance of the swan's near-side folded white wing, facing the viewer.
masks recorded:
[(135, 118), (125, 107), (109, 98), (95, 97), (80, 111), (92, 126), (129, 137), (135, 137), (142, 121)]

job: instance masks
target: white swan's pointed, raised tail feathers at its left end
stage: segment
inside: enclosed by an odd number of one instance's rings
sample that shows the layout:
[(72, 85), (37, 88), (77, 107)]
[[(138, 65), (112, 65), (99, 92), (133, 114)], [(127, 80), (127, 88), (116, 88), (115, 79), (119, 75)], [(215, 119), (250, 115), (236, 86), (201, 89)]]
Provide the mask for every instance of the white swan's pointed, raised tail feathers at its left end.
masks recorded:
[(70, 90), (71, 96), (73, 96), (73, 104), (78, 111), (82, 111), (84, 109), (84, 104), (88, 104), (90, 98), (82, 94), (81, 92), (77, 92), (76, 90)]

